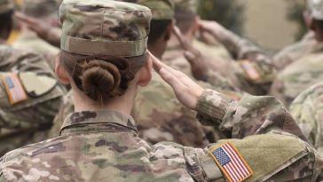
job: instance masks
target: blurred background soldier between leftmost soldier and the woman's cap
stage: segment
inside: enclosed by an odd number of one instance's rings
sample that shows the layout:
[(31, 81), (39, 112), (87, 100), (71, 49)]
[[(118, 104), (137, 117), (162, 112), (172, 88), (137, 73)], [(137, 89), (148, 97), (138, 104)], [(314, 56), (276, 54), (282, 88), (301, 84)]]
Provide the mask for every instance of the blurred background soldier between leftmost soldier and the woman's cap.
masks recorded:
[[(58, 4), (56, 0), (24, 0), (21, 4), (21, 12), (39, 20), (42, 24), (50, 24), (51, 27), (59, 26), (57, 14)], [(54, 65), (55, 57), (59, 54), (59, 49), (43, 41), (28, 25), (21, 21), (21, 34), (12, 44), (16, 49), (35, 51), (48, 60), (51, 67)]]

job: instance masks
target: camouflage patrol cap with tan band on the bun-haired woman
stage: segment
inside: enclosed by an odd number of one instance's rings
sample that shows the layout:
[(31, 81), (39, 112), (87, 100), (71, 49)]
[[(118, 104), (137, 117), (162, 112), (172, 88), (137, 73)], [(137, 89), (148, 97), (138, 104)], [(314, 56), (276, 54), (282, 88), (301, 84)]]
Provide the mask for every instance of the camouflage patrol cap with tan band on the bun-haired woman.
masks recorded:
[(152, 13), (145, 6), (107, 0), (64, 0), (59, 17), (63, 51), (119, 57), (146, 52)]

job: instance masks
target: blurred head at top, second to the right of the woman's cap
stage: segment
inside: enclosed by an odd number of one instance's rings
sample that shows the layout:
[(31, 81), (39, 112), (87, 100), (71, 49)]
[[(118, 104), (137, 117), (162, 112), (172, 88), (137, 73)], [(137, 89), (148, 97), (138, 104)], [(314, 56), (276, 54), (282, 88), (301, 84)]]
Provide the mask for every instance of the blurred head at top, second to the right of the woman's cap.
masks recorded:
[(199, 0), (174, 0), (174, 3), (177, 26), (185, 34), (193, 25)]

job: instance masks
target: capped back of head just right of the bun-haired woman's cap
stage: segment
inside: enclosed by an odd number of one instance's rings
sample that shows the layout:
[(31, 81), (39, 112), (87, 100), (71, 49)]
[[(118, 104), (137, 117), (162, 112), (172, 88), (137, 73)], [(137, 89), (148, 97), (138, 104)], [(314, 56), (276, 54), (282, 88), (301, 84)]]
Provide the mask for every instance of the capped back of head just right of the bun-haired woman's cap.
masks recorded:
[(171, 20), (174, 19), (174, 2), (173, 0), (118, 0), (122, 2), (135, 3), (148, 7), (153, 14), (153, 20), (150, 24), (151, 31), (149, 34), (149, 43), (153, 43), (160, 38)]

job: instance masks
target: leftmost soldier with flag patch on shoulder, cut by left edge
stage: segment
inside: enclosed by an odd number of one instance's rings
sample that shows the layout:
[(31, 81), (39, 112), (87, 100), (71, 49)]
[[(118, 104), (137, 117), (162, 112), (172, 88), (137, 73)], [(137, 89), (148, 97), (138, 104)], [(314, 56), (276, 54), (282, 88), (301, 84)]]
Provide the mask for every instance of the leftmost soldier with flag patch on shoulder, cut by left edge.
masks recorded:
[(13, 8), (11, 0), (0, 0), (0, 156), (45, 139), (40, 131), (51, 128), (63, 95), (42, 57), (5, 44)]

